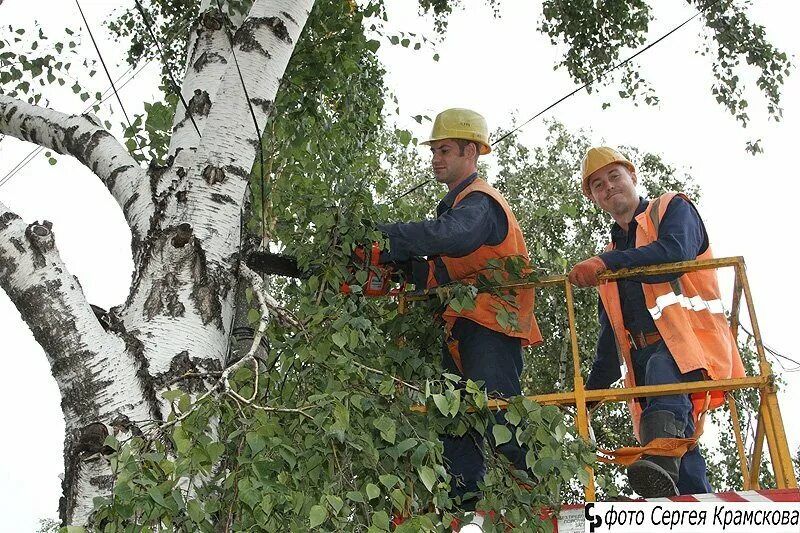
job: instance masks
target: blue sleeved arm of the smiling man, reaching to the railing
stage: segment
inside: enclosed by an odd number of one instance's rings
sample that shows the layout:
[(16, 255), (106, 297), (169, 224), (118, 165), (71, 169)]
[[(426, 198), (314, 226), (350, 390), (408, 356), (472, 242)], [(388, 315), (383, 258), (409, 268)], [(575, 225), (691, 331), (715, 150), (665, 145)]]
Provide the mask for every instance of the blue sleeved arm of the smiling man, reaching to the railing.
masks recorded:
[[(658, 228), (658, 238), (652, 243), (627, 250), (611, 250), (600, 259), (611, 270), (633, 268), (678, 261), (691, 261), (708, 248), (708, 235), (695, 207), (680, 196), (674, 197)], [(680, 274), (639, 276), (628, 278), (640, 283), (664, 283)]]

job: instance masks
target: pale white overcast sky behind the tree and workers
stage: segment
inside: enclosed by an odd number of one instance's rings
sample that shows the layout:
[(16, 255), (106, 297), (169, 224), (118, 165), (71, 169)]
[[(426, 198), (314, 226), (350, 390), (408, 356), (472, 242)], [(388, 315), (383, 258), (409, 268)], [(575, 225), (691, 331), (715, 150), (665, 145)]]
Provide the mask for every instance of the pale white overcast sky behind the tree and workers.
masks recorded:
[[(123, 50), (105, 36), (101, 21), (116, 2), (81, 2), (99, 45), (117, 77), (127, 66)], [(390, 1), (392, 27), (431, 33), (415, 2)], [(428, 124), (414, 115), (434, 116), (448, 107), (481, 112), (490, 129), (508, 127), (511, 117), (525, 120), (576, 86), (566, 73), (553, 71), (558, 51), (535, 31), (539, 2), (503, 0), (494, 18), (483, 2), (470, 0), (469, 9), (450, 19), (446, 37), (433, 50), (413, 51), (384, 46), (380, 56), (387, 84), (400, 104), (400, 122), (424, 137)], [(685, 2), (652, 2), (655, 39), (691, 16)], [(754, 2), (752, 18), (763, 24), (771, 42), (795, 56), (800, 51), (796, 0)], [(28, 2), (5, 0), (0, 22), (30, 27)], [(69, 25), (82, 25), (72, 2), (49, 2), (35, 14), (42, 26), (57, 34)], [(744, 256), (763, 338), (779, 353), (800, 360), (800, 341), (794, 337), (796, 302), (800, 296), (793, 275), (797, 238), (779, 233), (795, 227), (791, 202), (800, 193), (797, 148), (800, 139), (800, 73), (783, 88), (784, 118), (766, 120), (763, 100), (748, 93), (751, 125), (742, 129), (715, 101), (710, 62), (696, 54), (701, 23), (694, 20), (640, 56), (641, 73), (660, 97), (657, 107), (635, 107), (614, 99), (614, 90), (587, 95), (580, 92), (521, 131), (528, 145), (543, 143), (543, 119), (557, 119), (569, 129), (591, 131), (597, 143), (634, 145), (656, 152), (665, 161), (690, 172), (702, 187), (700, 210), (717, 257)], [(6, 31), (0, 29), (0, 31)], [(89, 39), (80, 52), (95, 58)], [(795, 58), (796, 60), (796, 58)], [(143, 101), (155, 98), (156, 71), (151, 65), (120, 91), (129, 114), (141, 111)], [(745, 79), (749, 79), (745, 76)], [(90, 82), (90, 93), (107, 87), (102, 73)], [(611, 101), (607, 110), (601, 104)], [(55, 109), (76, 113), (84, 104), (64, 95), (53, 98)], [(114, 106), (116, 108), (116, 106)], [(113, 121), (120, 122), (121, 115)], [(118, 133), (118, 132), (117, 132)], [(751, 156), (745, 142), (762, 139), (765, 153)], [(27, 155), (33, 145), (16, 139), (0, 141), (0, 177)], [(492, 158), (488, 156), (491, 166)], [(576, 178), (577, 179), (577, 178)], [(432, 193), (433, 194), (433, 193)], [(780, 200), (780, 201), (779, 201)], [(59, 157), (50, 166), (37, 156), (22, 172), (0, 186), (0, 201), (26, 222), (50, 220), (61, 256), (76, 275), (89, 301), (108, 308), (122, 302), (128, 291), (132, 262), (130, 234), (119, 208), (100, 181), (80, 164)], [(524, 215), (522, 215), (524, 216)], [(730, 301), (732, 272), (720, 272), (723, 297)], [(743, 315), (743, 324), (749, 321)], [(0, 292), (0, 520), (8, 531), (32, 531), (39, 518), (56, 517), (63, 471), (63, 420), (60, 396), (47, 360), (7, 296)], [(791, 363), (784, 363), (791, 369)], [(773, 367), (781, 365), (773, 359)], [(800, 447), (800, 425), (793, 424), (793, 408), (800, 403), (800, 373), (784, 372), (779, 399), (791, 450)]]

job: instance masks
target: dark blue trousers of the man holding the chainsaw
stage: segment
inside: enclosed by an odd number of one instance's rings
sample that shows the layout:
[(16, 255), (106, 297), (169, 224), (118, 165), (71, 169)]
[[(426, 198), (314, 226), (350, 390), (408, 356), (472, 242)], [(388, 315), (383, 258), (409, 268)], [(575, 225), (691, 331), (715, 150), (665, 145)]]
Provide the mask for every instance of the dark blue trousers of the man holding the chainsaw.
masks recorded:
[[(448, 347), (448, 341), (451, 347)], [(461, 358), (461, 368), (456, 365), (451, 349), (457, 350)], [(520, 374), (522, 373), (522, 344), (520, 339), (492, 331), (471, 320), (459, 318), (445, 338), (442, 348), (442, 366), (446, 372), (462, 376), (465, 380), (482, 381), (490, 397), (509, 398), (521, 394)], [(497, 423), (505, 424), (505, 412), (495, 414)], [(509, 427), (512, 434), (515, 428)], [(491, 432), (489, 433), (491, 435)], [(478, 482), (486, 473), (483, 456), (483, 437), (470, 431), (463, 437), (442, 435), (444, 457), (448, 471), (453, 476), (450, 495), (470, 500), (470, 494), (477, 495)], [(494, 443), (491, 443), (494, 446)], [(516, 439), (496, 447), (518, 470), (525, 470), (525, 450)], [(467, 502), (462, 507), (474, 505)]]

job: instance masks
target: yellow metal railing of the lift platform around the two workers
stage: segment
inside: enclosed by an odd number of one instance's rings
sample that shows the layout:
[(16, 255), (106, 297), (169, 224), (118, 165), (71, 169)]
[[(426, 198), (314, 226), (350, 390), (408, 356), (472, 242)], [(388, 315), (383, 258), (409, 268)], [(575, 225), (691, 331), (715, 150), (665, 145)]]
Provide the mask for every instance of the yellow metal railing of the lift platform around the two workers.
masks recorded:
[[(576, 407), (576, 425), (578, 433), (586, 440), (589, 440), (589, 416), (586, 408), (587, 402), (622, 402), (637, 397), (664, 396), (668, 394), (692, 394), (707, 391), (733, 391), (738, 389), (758, 389), (760, 393), (760, 405), (758, 410), (758, 424), (756, 429), (755, 444), (752, 457), (748, 461), (747, 452), (744, 447), (739, 414), (736, 404), (731, 395), (728, 395), (728, 407), (731, 412), (731, 421), (736, 436), (736, 447), (739, 455), (739, 466), (744, 480), (744, 490), (759, 488), (758, 477), (761, 465), (761, 456), (764, 440), (767, 441), (769, 456), (772, 468), (775, 473), (775, 482), (779, 489), (796, 488), (792, 466), (791, 452), (786, 441), (786, 433), (783, 429), (783, 419), (781, 418), (778, 406), (777, 387), (772, 367), (767, 361), (764, 344), (761, 339), (761, 330), (758, 326), (755, 309), (753, 306), (753, 296), (750, 292), (750, 284), (747, 280), (747, 272), (742, 257), (725, 257), (719, 259), (709, 259), (705, 261), (684, 261), (680, 263), (669, 263), (665, 265), (653, 265), (648, 267), (621, 269), (616, 272), (601, 274), (600, 280), (615, 280), (631, 276), (653, 275), (653, 274), (672, 274), (694, 272), (697, 270), (708, 270), (733, 267), (735, 271), (733, 301), (731, 305), (730, 328), (734, 339), (737, 338), (739, 330), (739, 311), (742, 295), (744, 295), (747, 310), (750, 316), (750, 324), (753, 328), (753, 338), (758, 354), (758, 370), (756, 375), (738, 379), (726, 379), (717, 381), (696, 381), (690, 383), (676, 383), (669, 385), (649, 385), (641, 387), (631, 387), (622, 389), (596, 389), (586, 390), (581, 374), (580, 353), (578, 352), (578, 336), (575, 327), (575, 309), (572, 293), (572, 285), (566, 276), (548, 276), (539, 278), (536, 281), (521, 281), (506, 283), (495, 288), (498, 289), (521, 289), (521, 288), (544, 288), (563, 286), (566, 294), (567, 320), (569, 322), (570, 344), (572, 346), (572, 370), (575, 389), (569, 392), (559, 392), (551, 394), (538, 394), (528, 396), (529, 399), (543, 405), (574, 405)], [(410, 292), (400, 295), (400, 309), (404, 310), (410, 301), (425, 300), (436, 296), (447, 288), (429, 289), (424, 291)], [(492, 408), (503, 409), (506, 402), (503, 400), (492, 400), (489, 405)], [(425, 406), (419, 405), (415, 411), (424, 412)], [(595, 500), (594, 475), (589, 470), (589, 483), (585, 488), (586, 501)]]

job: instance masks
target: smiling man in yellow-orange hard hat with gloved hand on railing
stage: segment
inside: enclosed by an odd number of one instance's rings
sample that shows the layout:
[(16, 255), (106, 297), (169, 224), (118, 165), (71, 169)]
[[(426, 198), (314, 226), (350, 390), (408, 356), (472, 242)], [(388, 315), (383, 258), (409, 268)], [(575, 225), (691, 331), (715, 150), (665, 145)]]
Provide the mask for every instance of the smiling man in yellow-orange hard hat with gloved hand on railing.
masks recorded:
[[(628, 387), (744, 376), (715, 271), (598, 280), (604, 270), (712, 258), (694, 204), (674, 192), (654, 200), (640, 197), (636, 168), (613, 148), (591, 148), (581, 174), (583, 194), (614, 220), (605, 252), (569, 273), (576, 286), (597, 286), (600, 293), (600, 334), (586, 388), (604, 389), (617, 381), (620, 361)], [(722, 392), (629, 402), (634, 431), (644, 446), (642, 457), (628, 467), (633, 490), (643, 497), (711, 492), (698, 447), (682, 457), (647, 451), (655, 451), (659, 439), (699, 436), (695, 424), (700, 413), (722, 403)]]

